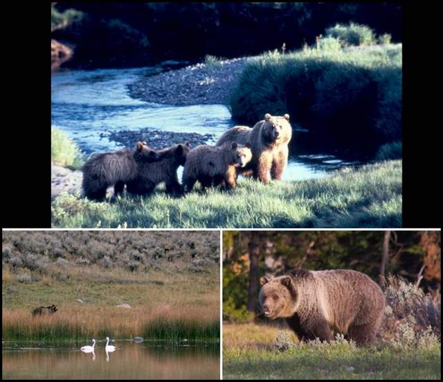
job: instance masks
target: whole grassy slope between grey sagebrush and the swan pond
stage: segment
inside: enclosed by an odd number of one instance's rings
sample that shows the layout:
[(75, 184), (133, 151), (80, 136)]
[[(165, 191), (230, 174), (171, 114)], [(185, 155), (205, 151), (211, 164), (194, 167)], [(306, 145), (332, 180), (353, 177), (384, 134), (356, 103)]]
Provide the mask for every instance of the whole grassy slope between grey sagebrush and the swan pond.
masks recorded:
[[(87, 266), (69, 270), (64, 281), (53, 273), (24, 282), (8, 266), (2, 273), (3, 340), (219, 338), (216, 266), (199, 273)], [(123, 303), (131, 308), (116, 307)], [(59, 311), (31, 315), (35, 306), (48, 304)]]

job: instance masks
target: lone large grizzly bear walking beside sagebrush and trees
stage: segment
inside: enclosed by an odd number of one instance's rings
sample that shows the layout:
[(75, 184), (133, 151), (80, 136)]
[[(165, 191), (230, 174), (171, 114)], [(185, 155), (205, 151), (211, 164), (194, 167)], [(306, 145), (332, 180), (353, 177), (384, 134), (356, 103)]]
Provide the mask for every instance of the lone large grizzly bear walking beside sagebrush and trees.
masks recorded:
[(358, 345), (374, 342), (385, 309), (381, 288), (354, 270), (293, 270), (260, 279), (260, 306), (285, 318), (298, 338), (333, 340), (343, 333)]

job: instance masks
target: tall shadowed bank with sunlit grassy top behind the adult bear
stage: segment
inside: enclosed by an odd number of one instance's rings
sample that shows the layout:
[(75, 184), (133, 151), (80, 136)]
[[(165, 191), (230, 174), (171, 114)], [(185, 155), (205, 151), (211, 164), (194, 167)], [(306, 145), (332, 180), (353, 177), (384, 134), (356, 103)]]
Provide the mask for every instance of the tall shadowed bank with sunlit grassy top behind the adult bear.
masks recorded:
[(293, 124), (323, 139), (374, 152), (400, 140), (401, 44), (342, 48), (333, 37), (324, 40), (318, 49), (249, 62), (231, 96), (233, 119), (253, 125), (266, 112), (288, 112)]

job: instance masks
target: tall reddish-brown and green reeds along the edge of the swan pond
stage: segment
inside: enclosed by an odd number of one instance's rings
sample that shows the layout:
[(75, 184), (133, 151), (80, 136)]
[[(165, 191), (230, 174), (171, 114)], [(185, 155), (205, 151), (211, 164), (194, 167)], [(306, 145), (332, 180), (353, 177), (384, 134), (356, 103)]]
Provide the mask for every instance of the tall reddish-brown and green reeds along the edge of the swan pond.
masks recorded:
[[(53, 315), (33, 317), (29, 311), (4, 309), (3, 340), (80, 340), (134, 338), (150, 340), (217, 340), (219, 318), (200, 307), (180, 311), (73, 308)], [(203, 317), (203, 319), (202, 319)]]

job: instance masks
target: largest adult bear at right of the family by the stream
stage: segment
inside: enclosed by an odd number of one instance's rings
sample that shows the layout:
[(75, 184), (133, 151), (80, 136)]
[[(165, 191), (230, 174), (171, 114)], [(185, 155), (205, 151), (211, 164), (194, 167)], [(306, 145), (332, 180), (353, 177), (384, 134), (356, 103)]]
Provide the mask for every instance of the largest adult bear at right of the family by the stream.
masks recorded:
[(281, 180), (284, 167), (288, 162), (288, 144), (291, 140), (292, 128), (289, 124), (289, 114), (271, 116), (265, 114), (264, 120), (255, 123), (253, 128), (236, 126), (225, 132), (217, 141), (221, 146), (226, 141), (235, 141), (237, 144), (251, 144), (252, 160), (244, 168), (237, 168), (238, 173), (253, 175), (265, 184), (271, 177)]

